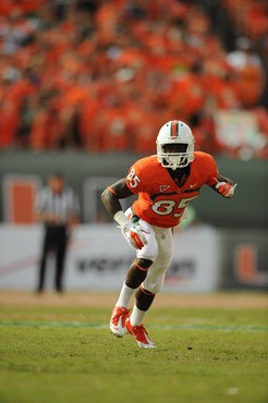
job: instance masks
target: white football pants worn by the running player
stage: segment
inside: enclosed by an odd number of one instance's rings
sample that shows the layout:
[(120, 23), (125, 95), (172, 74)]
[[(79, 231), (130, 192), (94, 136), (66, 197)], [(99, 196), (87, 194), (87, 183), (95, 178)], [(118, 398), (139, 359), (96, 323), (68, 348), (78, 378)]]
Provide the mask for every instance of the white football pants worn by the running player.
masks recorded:
[[(132, 216), (131, 208), (125, 211), (125, 216)], [(135, 249), (136, 257), (154, 261), (147, 271), (147, 277), (142, 283), (142, 286), (156, 294), (163, 285), (166, 272), (172, 260), (173, 234), (170, 228), (150, 225), (142, 219), (139, 219), (138, 224), (146, 231), (145, 236), (148, 243), (142, 249)], [(131, 245), (129, 239), (125, 235), (124, 237)]]

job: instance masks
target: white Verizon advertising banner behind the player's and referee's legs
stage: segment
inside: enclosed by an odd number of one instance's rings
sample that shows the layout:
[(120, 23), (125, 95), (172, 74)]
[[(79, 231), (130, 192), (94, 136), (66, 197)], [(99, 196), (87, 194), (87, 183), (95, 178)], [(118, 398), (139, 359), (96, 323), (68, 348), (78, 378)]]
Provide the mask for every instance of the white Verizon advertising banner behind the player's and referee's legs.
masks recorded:
[[(35, 290), (40, 258), (40, 225), (0, 225), (0, 288)], [(163, 290), (209, 292), (220, 283), (218, 232), (206, 225), (174, 233), (173, 260)], [(66, 256), (66, 291), (120, 290), (134, 249), (114, 224), (80, 225)], [(53, 255), (47, 264), (46, 288), (53, 288)]]

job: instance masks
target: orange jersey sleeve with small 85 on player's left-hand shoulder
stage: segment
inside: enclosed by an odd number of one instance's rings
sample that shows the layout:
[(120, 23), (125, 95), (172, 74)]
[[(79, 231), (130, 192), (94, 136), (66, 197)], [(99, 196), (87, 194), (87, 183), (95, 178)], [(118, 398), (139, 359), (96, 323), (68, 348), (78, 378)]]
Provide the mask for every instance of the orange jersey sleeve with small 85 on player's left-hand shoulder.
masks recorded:
[(133, 194), (145, 192), (148, 186), (148, 171), (146, 166), (143, 160), (138, 160), (129, 170), (126, 186)]

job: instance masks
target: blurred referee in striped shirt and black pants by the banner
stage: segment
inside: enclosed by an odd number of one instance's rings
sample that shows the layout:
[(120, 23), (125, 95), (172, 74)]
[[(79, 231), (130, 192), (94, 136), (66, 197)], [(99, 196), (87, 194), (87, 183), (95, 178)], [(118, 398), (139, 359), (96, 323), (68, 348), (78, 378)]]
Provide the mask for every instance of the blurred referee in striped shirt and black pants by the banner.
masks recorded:
[(38, 193), (35, 212), (36, 220), (42, 222), (45, 227), (37, 292), (44, 291), (47, 256), (51, 251), (56, 254), (54, 289), (57, 292), (62, 292), (69, 231), (72, 225), (78, 223), (80, 205), (73, 190), (65, 186), (65, 180), (61, 172), (49, 176), (48, 185)]

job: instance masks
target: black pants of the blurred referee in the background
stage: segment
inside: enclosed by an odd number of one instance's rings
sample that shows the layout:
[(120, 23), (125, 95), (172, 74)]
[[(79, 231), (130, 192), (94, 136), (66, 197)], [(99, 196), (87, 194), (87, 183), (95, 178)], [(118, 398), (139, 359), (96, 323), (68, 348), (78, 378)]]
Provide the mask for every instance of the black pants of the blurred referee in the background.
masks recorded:
[(42, 253), (39, 266), (39, 279), (37, 291), (44, 290), (45, 276), (47, 267), (47, 257), (50, 251), (56, 253), (56, 274), (54, 274), (54, 288), (57, 291), (63, 291), (62, 280), (64, 271), (64, 258), (68, 246), (68, 228), (66, 225), (46, 225), (45, 236), (42, 244)]

